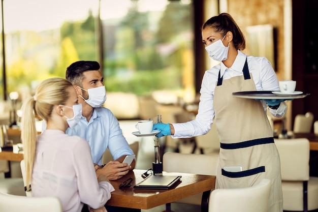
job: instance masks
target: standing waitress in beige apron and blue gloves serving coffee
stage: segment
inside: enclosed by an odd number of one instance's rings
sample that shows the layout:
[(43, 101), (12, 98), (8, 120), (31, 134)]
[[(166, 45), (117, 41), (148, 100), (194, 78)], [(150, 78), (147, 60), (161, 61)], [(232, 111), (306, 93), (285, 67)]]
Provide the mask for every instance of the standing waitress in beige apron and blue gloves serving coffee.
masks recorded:
[[(275, 72), (265, 57), (246, 56), (244, 36), (231, 15), (221, 13), (202, 26), (209, 56), (221, 62), (203, 76), (196, 119), (179, 124), (155, 124), (156, 136), (185, 138), (209, 132), (215, 116), (220, 139), (216, 188), (243, 188), (271, 180), (268, 211), (282, 211), (280, 161), (266, 107), (275, 117), (287, 110), (284, 100), (241, 99), (234, 92), (279, 90)], [(226, 169), (226, 166), (235, 166)]]

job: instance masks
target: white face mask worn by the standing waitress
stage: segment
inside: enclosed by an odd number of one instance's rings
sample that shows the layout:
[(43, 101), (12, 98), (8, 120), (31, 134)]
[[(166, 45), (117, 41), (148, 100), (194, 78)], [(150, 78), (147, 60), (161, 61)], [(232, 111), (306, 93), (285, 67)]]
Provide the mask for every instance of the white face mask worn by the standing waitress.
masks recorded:
[(205, 47), (205, 50), (208, 52), (209, 56), (216, 60), (216, 61), (223, 61), (228, 58), (228, 52), (229, 52), (229, 46), (228, 47), (224, 46), (222, 41), (224, 40), (225, 36), (223, 37), (222, 40), (218, 40), (209, 46)]

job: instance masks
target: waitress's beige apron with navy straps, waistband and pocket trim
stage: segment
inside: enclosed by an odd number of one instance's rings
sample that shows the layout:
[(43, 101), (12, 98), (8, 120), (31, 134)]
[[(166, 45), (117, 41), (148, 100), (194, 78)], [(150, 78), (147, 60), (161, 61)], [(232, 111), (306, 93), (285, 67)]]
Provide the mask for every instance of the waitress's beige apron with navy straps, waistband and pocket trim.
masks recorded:
[[(215, 124), (220, 139), (216, 188), (242, 188), (271, 180), (270, 212), (282, 211), (280, 160), (273, 131), (260, 101), (232, 96), (234, 92), (256, 90), (247, 60), (244, 76), (227, 80), (218, 77), (214, 92)], [(228, 172), (224, 166), (242, 166)]]

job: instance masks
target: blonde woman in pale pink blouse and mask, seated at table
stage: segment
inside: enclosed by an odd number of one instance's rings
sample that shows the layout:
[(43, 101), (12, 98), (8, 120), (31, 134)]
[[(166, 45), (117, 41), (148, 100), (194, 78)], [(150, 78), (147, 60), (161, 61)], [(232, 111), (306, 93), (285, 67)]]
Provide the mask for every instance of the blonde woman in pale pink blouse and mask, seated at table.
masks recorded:
[[(25, 100), (22, 111), (26, 180), (33, 196), (57, 196), (63, 211), (81, 211), (83, 204), (106, 211), (103, 206), (114, 188), (105, 176), (96, 175), (87, 141), (65, 134), (82, 113), (72, 83), (62, 78), (43, 81), (35, 96)], [(39, 136), (35, 114), (47, 123)]]

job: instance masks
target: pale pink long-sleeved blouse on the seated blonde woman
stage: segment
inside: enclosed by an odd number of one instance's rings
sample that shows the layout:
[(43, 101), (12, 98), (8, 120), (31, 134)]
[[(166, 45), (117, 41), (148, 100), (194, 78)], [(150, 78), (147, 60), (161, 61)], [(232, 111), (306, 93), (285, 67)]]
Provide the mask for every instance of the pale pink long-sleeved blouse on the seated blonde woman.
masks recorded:
[(87, 141), (59, 130), (38, 136), (32, 177), (33, 196), (57, 196), (68, 212), (81, 211), (83, 203), (99, 208), (114, 191), (107, 181), (98, 183)]

